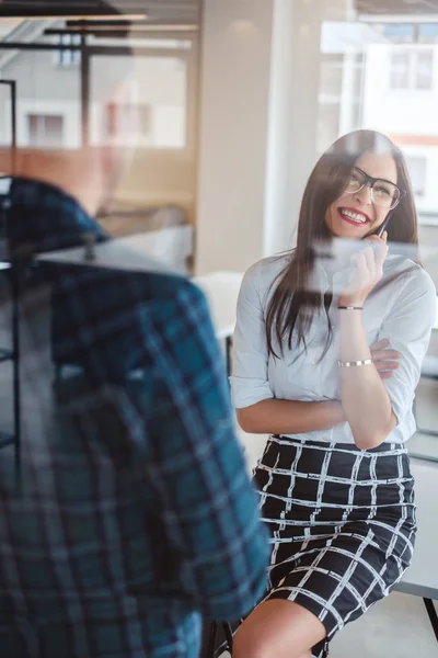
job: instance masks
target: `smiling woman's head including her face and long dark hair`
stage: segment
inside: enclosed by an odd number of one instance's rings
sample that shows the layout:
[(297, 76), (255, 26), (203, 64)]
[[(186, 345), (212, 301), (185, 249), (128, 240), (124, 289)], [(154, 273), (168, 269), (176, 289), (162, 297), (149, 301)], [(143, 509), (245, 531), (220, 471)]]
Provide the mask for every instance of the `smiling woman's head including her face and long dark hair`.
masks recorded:
[[(401, 150), (384, 135), (373, 131), (356, 131), (335, 141), (321, 157), (307, 184), (298, 223), (297, 248), (288, 266), (281, 272), (279, 284), (269, 302), (266, 337), (269, 352), (274, 352), (273, 336), (290, 345), (297, 330), (298, 341), (304, 341), (310, 317), (302, 309), (314, 309), (321, 296), (309, 290), (308, 282), (315, 263), (315, 245), (330, 241), (333, 236), (361, 239), (379, 232), (390, 208), (376, 205), (374, 194), (368, 185), (351, 194), (348, 192), (355, 171), (365, 175), (388, 179), (400, 189), (403, 203), (391, 209), (388, 240), (404, 245), (418, 245), (417, 214), (410, 175)], [(373, 175), (372, 175), (373, 174)], [(403, 191), (403, 193), (402, 193)], [(339, 208), (342, 212), (339, 212)], [(346, 222), (345, 211), (361, 213), (360, 224)], [(290, 291), (296, 294), (290, 299)], [(324, 296), (328, 307), (332, 296)], [(327, 339), (331, 330), (328, 327)]]

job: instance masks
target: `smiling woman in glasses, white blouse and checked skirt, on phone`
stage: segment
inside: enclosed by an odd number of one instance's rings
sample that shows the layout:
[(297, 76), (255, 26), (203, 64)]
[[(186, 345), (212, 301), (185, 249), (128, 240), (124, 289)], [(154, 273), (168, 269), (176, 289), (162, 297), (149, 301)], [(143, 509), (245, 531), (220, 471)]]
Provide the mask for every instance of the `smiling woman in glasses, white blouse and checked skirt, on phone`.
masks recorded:
[[(417, 241), (401, 151), (359, 131), (312, 172), (297, 248), (244, 277), (231, 384), (241, 427), (270, 434), (255, 483), (273, 553), (268, 592), (239, 628), (233, 658), (327, 656), (335, 633), (388, 595), (411, 561), (405, 442), (436, 296), (401, 256)], [(339, 242), (356, 251), (345, 262), (333, 257)], [(377, 363), (389, 343), (397, 354), (388, 358), (400, 358), (393, 376)]]

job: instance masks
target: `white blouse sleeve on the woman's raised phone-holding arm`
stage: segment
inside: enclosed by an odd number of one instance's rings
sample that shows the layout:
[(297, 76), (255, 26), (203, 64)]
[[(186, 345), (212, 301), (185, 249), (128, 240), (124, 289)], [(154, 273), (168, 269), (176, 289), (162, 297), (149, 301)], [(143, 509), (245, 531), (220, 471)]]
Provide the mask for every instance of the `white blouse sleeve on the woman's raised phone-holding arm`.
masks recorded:
[(406, 276), (402, 294), (379, 332), (379, 340), (388, 339), (391, 348), (402, 355), (399, 370), (384, 382), (399, 424), (412, 411), (435, 322), (436, 294), (424, 270), (418, 269), (415, 276)]

